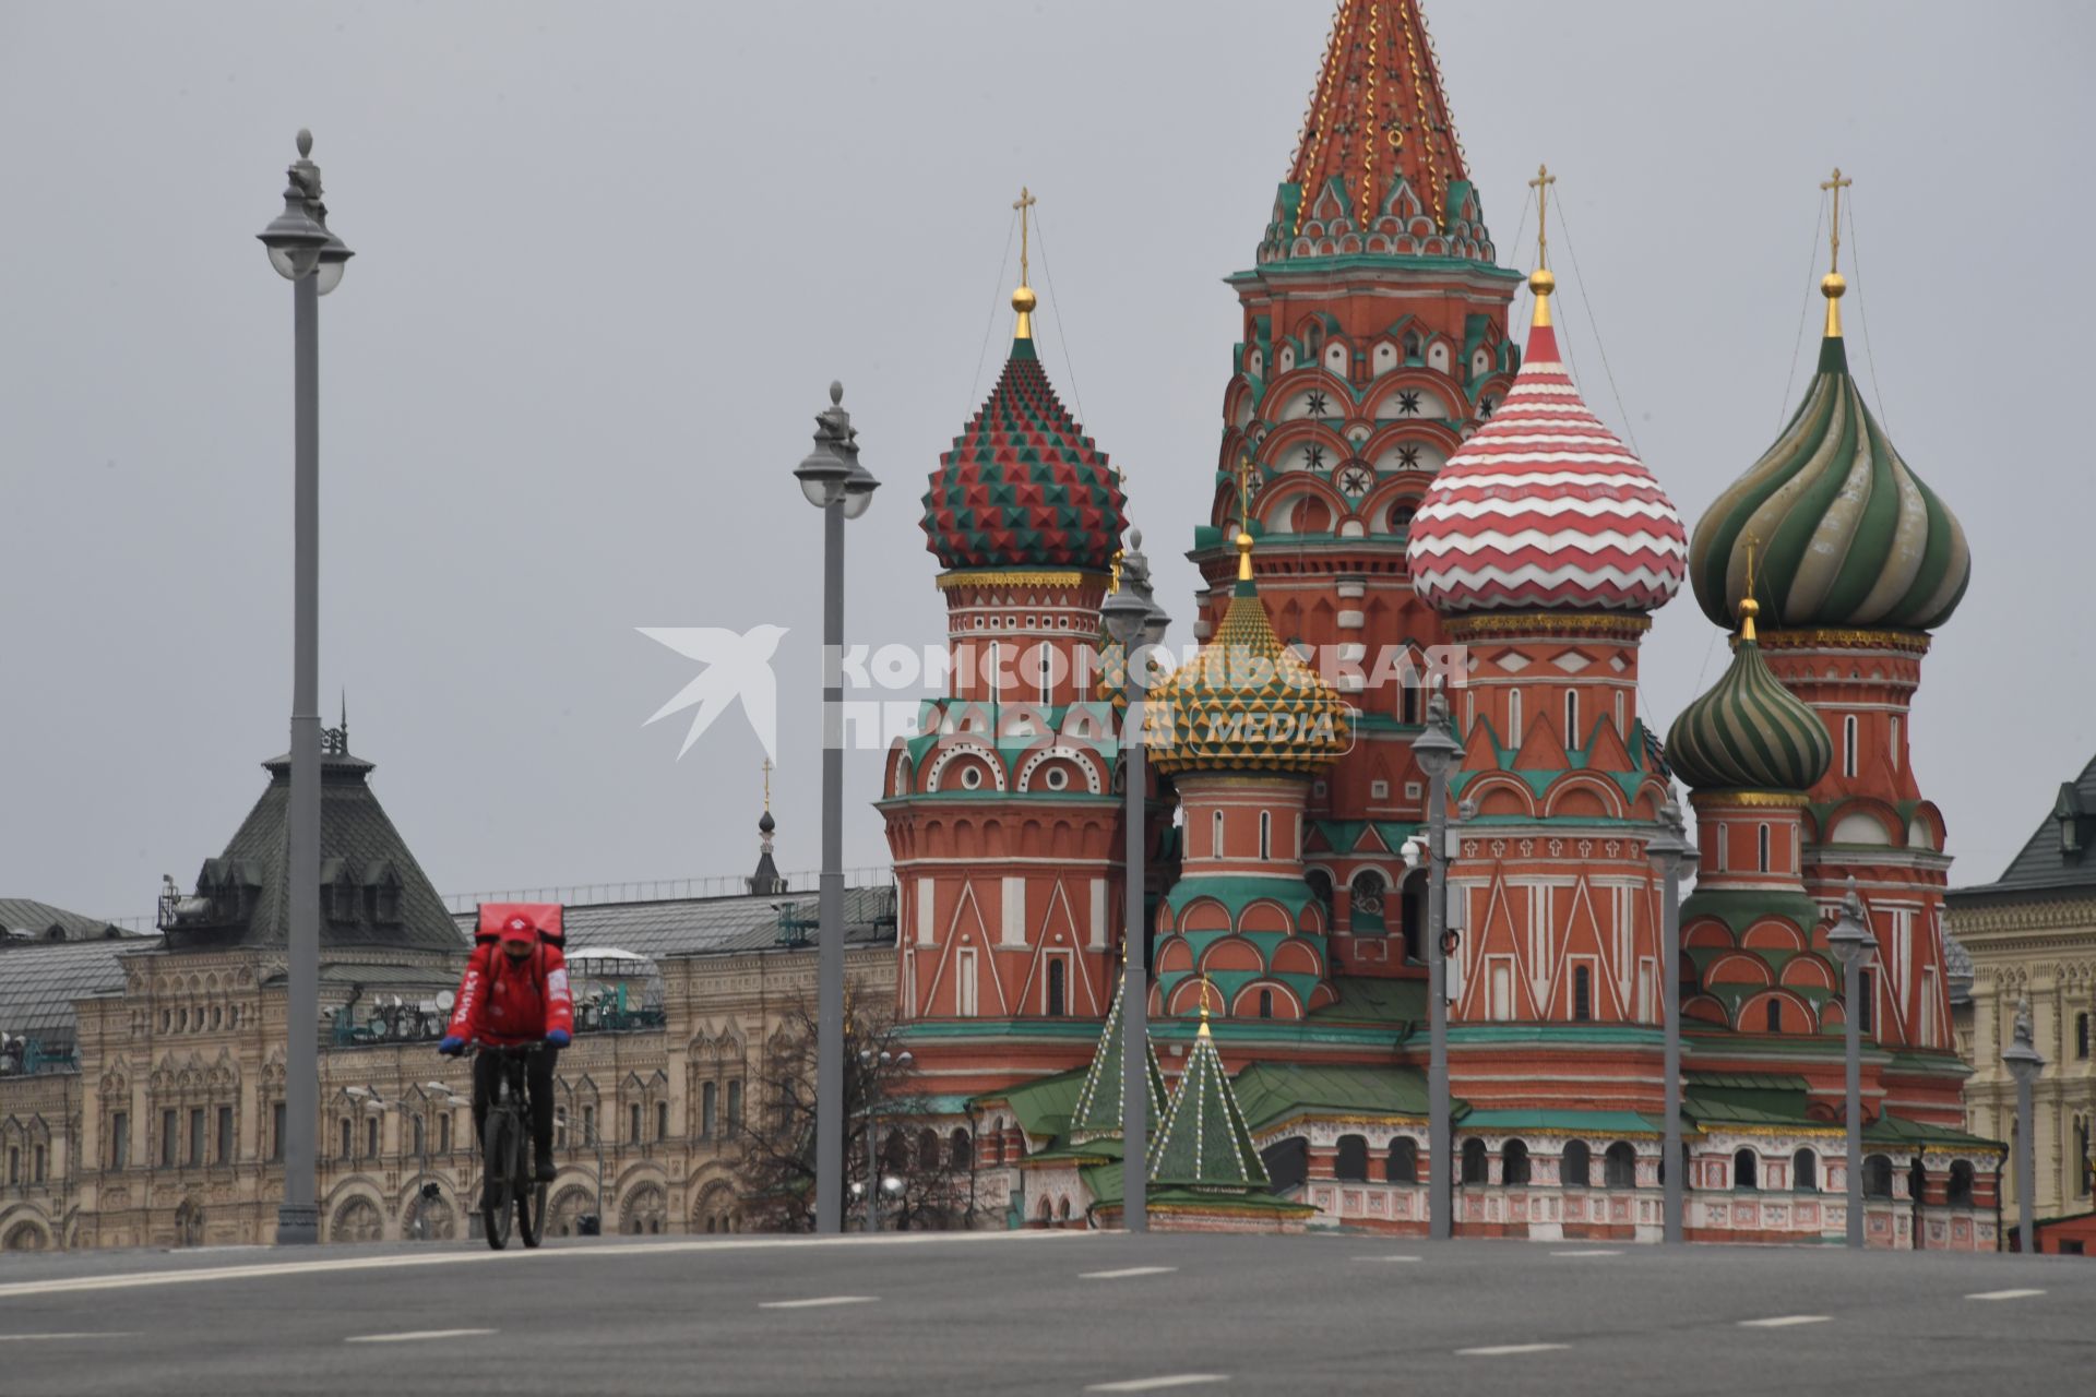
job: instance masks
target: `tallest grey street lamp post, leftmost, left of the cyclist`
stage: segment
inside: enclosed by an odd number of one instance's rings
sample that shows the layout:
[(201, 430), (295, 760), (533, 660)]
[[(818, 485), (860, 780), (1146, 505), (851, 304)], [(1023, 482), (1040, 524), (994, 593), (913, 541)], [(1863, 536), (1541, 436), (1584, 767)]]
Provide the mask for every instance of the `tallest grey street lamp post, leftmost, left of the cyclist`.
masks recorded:
[(258, 237), (270, 266), (291, 283), (293, 501), (291, 501), (291, 928), (285, 984), (285, 1158), (277, 1244), (321, 1240), (316, 1139), (321, 1047), (321, 297), (342, 283), (354, 256), (327, 230), (312, 132), (298, 134), (298, 161), (283, 214)]

